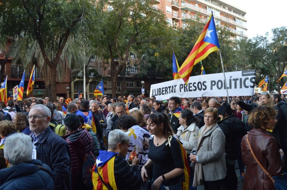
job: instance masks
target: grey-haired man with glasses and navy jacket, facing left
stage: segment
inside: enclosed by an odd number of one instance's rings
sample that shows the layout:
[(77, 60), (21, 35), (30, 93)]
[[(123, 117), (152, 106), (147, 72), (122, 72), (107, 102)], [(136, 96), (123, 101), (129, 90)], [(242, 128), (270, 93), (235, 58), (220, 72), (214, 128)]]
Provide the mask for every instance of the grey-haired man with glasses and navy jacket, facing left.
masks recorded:
[(34, 132), (31, 137), (37, 159), (52, 169), (56, 189), (71, 189), (70, 149), (68, 143), (49, 127), (50, 109), (42, 104), (35, 105), (28, 119), (30, 130)]

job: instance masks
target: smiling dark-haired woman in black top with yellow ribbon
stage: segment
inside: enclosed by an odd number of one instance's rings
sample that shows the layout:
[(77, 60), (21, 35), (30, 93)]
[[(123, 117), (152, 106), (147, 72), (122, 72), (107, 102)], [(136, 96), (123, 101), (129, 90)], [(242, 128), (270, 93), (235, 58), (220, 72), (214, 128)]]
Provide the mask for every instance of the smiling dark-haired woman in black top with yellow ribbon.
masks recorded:
[[(153, 166), (152, 189), (181, 189), (184, 169), (179, 142), (166, 114), (154, 113), (148, 116), (147, 128), (150, 132), (148, 161), (141, 169), (141, 177), (147, 181), (147, 170)], [(171, 136), (171, 137), (170, 137)]]

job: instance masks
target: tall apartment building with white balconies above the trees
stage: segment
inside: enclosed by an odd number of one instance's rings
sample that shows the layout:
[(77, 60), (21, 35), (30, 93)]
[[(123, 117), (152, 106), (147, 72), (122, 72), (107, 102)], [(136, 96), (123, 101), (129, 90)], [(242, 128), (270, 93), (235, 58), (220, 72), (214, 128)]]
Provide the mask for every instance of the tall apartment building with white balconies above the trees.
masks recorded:
[(186, 27), (188, 20), (206, 22), (213, 11), (216, 25), (230, 28), (231, 39), (247, 38), (246, 11), (223, 0), (155, 0), (171, 26)]

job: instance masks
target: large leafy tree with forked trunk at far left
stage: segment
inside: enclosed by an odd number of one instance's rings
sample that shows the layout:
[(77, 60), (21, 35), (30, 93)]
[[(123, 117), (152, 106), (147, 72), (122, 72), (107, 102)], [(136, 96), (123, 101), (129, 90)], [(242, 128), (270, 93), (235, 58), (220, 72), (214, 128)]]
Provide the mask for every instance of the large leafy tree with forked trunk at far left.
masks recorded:
[[(99, 1), (98, 5), (102, 5)], [(0, 33), (10, 37), (27, 37), (36, 41), (46, 86), (51, 84), (52, 101), (56, 100), (59, 60), (69, 38), (87, 31), (96, 1), (91, 0), (15, 0), (0, 4)], [(99, 4), (100, 3), (100, 4)], [(13, 29), (12, 29), (13, 28)]]

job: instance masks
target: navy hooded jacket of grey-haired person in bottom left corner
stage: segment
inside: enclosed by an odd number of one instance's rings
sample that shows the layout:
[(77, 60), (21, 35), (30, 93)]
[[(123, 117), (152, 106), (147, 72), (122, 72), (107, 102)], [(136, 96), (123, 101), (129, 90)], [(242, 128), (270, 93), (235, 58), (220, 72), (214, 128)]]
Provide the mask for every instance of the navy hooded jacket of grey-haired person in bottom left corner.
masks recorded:
[(55, 189), (53, 177), (40, 165), (52, 173), (50, 167), (42, 164), (40, 160), (33, 160), (32, 163), (22, 163), (0, 170), (0, 189)]

